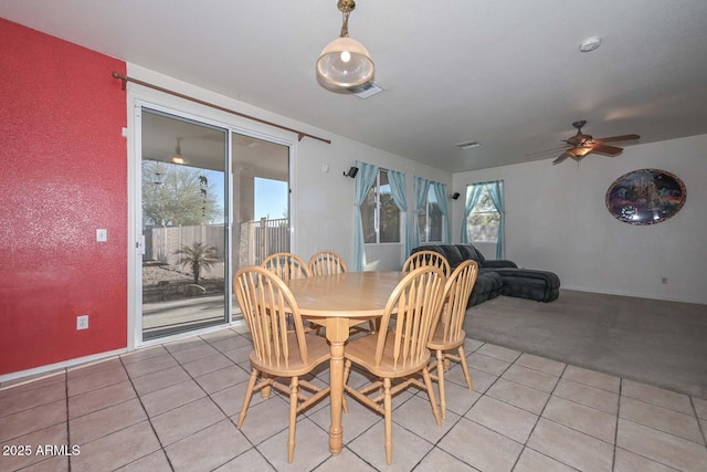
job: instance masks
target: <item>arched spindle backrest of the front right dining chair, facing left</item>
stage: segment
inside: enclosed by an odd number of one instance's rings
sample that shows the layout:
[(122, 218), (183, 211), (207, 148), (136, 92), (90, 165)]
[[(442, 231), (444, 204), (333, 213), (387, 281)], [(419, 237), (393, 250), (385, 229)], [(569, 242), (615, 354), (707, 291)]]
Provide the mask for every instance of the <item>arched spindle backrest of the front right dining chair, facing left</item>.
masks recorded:
[(394, 336), (393, 364), (395, 367), (414, 367), (426, 361), (428, 343), (432, 327), (436, 325), (444, 296), (445, 276), (442, 270), (425, 265), (410, 272), (395, 286), (381, 319), (389, 326), (394, 315), (392, 329), (380, 329), (376, 345), (376, 366), (383, 359), (388, 336)]

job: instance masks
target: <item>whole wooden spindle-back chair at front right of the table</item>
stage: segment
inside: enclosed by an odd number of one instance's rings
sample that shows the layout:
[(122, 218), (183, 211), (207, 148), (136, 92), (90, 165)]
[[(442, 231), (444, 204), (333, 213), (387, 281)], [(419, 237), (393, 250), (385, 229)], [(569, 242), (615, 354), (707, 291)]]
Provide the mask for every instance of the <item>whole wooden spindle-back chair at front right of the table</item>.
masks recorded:
[[(391, 316), (395, 315), (391, 329), (354, 339), (344, 352), (345, 390), (384, 417), (388, 465), (393, 453), (393, 395), (410, 385), (426, 389), (434, 419), (437, 426), (442, 424), (428, 370), (431, 357), (428, 343), (440, 315), (444, 281), (442, 270), (432, 265), (410, 272), (395, 286), (383, 308), (382, 326), (388, 326)], [(363, 367), (376, 379), (362, 388), (352, 388), (348, 385), (352, 364)], [(420, 381), (420, 375), (423, 381)], [(393, 380), (397, 381), (394, 386)]]

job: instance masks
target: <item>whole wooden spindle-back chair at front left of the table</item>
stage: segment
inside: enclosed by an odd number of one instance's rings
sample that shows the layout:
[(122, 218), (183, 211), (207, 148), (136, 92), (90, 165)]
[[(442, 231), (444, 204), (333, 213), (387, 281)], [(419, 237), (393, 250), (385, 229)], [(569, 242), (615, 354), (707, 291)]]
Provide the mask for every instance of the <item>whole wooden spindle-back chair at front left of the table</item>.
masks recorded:
[[(300, 377), (329, 360), (329, 345), (323, 337), (305, 335), (297, 302), (274, 273), (255, 265), (243, 268), (236, 273), (233, 285), (253, 338), (250, 355), (253, 370), (236, 426), (239, 429), (243, 426), (253, 392), (263, 390), (264, 397), (268, 397), (275, 388), (288, 395), (287, 462), (292, 462), (297, 413), (329, 394), (329, 387), (317, 387)], [(294, 331), (287, 326), (288, 315), (294, 318)], [(283, 377), (289, 378), (289, 385), (278, 381)], [(310, 394), (303, 392), (303, 389)], [(268, 413), (265, 416), (267, 418), (263, 421), (272, 420)]]

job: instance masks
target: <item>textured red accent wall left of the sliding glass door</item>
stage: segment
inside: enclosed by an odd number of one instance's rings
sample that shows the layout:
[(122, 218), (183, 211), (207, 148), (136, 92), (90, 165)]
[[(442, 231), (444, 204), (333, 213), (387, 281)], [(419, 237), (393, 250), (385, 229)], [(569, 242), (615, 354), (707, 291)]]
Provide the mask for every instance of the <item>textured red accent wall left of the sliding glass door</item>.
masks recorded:
[(0, 38), (2, 375), (127, 346), (127, 117), (124, 62), (3, 19)]

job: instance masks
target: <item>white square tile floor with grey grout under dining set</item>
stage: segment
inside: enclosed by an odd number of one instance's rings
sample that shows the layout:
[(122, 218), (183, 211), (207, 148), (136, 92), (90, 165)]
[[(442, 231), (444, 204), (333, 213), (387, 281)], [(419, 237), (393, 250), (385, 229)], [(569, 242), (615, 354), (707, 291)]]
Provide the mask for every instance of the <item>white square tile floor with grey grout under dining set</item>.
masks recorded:
[(381, 417), (352, 399), (341, 454), (328, 450), (325, 399), (300, 415), (287, 464), (286, 399), (254, 396), (235, 428), (250, 349), (223, 329), (2, 386), (0, 470), (707, 470), (706, 399), (475, 340), (474, 389), (458, 366), (449, 371), (441, 428), (424, 391), (394, 398), (392, 466)]

